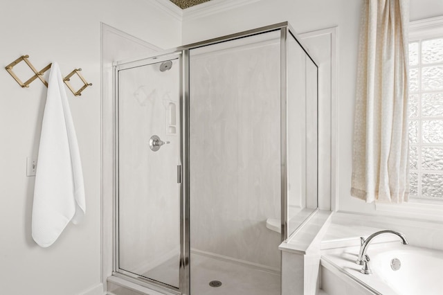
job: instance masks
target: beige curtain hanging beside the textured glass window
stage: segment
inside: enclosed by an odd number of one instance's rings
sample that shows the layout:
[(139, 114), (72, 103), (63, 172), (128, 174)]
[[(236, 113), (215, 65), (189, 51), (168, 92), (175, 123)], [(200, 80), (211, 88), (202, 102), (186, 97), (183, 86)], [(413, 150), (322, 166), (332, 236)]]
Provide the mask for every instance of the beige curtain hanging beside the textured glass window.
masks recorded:
[(408, 0), (364, 0), (351, 195), (408, 199)]

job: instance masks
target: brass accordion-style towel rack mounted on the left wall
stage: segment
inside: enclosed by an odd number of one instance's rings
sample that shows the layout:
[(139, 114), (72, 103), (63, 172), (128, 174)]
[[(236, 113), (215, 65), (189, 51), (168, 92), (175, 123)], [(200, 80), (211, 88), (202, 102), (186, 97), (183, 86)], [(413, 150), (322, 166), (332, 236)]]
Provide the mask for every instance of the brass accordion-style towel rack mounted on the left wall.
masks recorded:
[[(48, 87), (48, 82), (46, 82), (46, 80), (44, 80), (43, 75), (46, 71), (48, 71), (48, 69), (51, 69), (52, 64), (48, 64), (41, 71), (37, 71), (35, 69), (35, 67), (33, 66), (33, 64), (31, 64), (30, 61), (28, 60), (28, 57), (29, 57), (29, 55), (21, 55), (21, 57), (17, 58), (17, 60), (11, 62), (10, 64), (8, 64), (5, 67), (6, 71), (8, 71), (8, 73), (10, 73), (12, 78), (14, 78), (17, 81), (17, 83), (19, 83), (19, 85), (21, 87), (26, 87), (26, 88), (29, 87), (29, 84), (37, 78), (39, 78), (39, 80), (42, 81), (42, 83), (46, 87)], [(26, 82), (21, 82), (19, 77), (17, 77), (17, 75), (14, 73), (14, 71), (12, 71), (14, 66), (19, 64), (20, 62), (25, 62), (34, 73), (34, 75), (31, 78), (29, 78)], [(82, 69), (74, 69), (73, 71), (71, 71), (71, 73), (69, 73), (69, 75), (66, 75), (66, 77), (63, 78), (64, 84), (66, 84), (66, 86), (69, 88), (69, 90), (71, 90), (71, 92), (74, 94), (74, 96), (81, 96), (82, 91), (84, 89), (86, 89), (88, 86), (92, 86), (92, 83), (88, 83), (83, 78), (82, 74), (80, 74), (80, 71), (82, 71)], [(71, 77), (75, 74), (78, 75), (78, 78), (80, 78), (80, 80), (82, 80), (82, 82), (83, 82), (83, 86), (80, 87), (80, 89), (78, 89), (77, 91), (75, 89), (73, 89), (73, 87), (71, 86), (71, 83), (69, 83), (69, 81), (71, 80)]]

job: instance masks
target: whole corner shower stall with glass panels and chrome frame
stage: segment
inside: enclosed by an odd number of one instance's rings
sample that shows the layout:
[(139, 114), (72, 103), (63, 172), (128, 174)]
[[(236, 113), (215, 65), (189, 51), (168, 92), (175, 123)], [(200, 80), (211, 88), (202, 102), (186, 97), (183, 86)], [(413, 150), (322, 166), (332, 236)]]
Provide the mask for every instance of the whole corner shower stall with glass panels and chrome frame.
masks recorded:
[(280, 294), (317, 208), (318, 69), (289, 24), (116, 62), (114, 275), (165, 294)]

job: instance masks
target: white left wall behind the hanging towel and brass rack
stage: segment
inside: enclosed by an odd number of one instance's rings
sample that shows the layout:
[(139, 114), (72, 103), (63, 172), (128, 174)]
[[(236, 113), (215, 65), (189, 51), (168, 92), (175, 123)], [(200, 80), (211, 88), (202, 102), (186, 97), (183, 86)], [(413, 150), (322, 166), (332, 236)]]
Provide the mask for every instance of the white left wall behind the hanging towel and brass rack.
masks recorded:
[(80, 97), (66, 90), (80, 145), (87, 213), (80, 225), (69, 224), (55, 244), (42, 249), (30, 235), (35, 177), (26, 177), (26, 157), (37, 156), (46, 88), (36, 80), (21, 89), (0, 70), (0, 293), (101, 294), (100, 21), (162, 48), (181, 44), (181, 24), (144, 0), (5, 0), (0, 11), (3, 67), (28, 54), (37, 69), (57, 61), (62, 74), (81, 67), (93, 83)]

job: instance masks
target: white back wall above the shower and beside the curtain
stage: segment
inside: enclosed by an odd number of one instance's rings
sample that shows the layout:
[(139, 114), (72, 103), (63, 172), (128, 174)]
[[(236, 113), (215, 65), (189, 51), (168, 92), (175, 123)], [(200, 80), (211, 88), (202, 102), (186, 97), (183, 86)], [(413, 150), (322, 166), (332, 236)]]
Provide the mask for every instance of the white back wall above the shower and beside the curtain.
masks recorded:
[[(375, 213), (374, 204), (350, 196), (352, 133), (360, 10), (363, 1), (261, 0), (236, 10), (183, 21), (183, 44), (289, 21), (298, 33), (338, 26), (338, 175), (339, 211)], [(410, 0), (410, 20), (443, 15), (440, 0)]]

